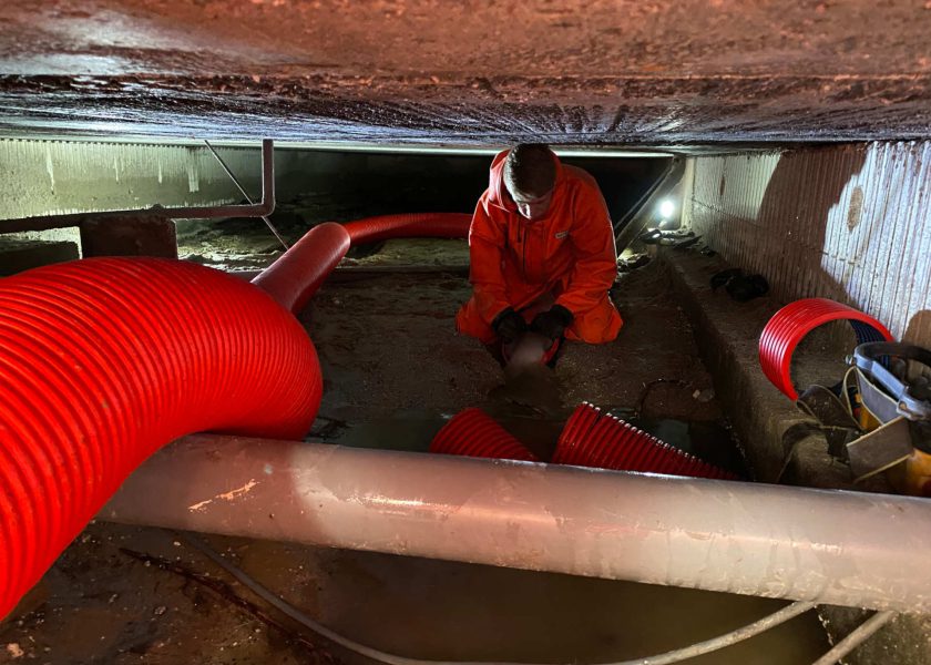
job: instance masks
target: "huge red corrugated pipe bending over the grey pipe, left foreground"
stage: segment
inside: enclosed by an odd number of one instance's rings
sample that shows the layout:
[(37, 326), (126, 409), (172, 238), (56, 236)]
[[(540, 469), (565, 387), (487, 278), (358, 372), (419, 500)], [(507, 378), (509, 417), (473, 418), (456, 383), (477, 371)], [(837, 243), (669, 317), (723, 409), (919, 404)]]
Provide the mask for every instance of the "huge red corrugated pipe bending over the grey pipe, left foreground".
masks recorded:
[(320, 393), (300, 324), (218, 270), (91, 258), (0, 280), (0, 618), (156, 449), (301, 438)]

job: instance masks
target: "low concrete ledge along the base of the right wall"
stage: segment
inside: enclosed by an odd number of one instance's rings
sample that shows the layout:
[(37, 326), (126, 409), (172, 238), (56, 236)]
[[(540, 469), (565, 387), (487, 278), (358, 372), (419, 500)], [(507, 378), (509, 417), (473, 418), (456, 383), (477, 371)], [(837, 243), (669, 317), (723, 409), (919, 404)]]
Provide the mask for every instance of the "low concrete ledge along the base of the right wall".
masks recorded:
[[(853, 485), (846, 466), (827, 453), (827, 441), (811, 433), (810, 418), (779, 392), (759, 368), (759, 335), (769, 317), (782, 306), (770, 297), (748, 303), (733, 300), (723, 289), (712, 291), (710, 277), (728, 266), (718, 257), (663, 248), (659, 260), (695, 332), (699, 352), (714, 376), (748, 462), (763, 482), (785, 482), (826, 489), (891, 492), (883, 479)], [(791, 460), (782, 470), (789, 450)], [(781, 477), (780, 477), (781, 472)], [(924, 575), (927, 571), (914, 571)], [(832, 643), (842, 640), (870, 615), (849, 607), (819, 607)], [(931, 616), (901, 615), (845, 658), (845, 663), (873, 665), (928, 663)]]

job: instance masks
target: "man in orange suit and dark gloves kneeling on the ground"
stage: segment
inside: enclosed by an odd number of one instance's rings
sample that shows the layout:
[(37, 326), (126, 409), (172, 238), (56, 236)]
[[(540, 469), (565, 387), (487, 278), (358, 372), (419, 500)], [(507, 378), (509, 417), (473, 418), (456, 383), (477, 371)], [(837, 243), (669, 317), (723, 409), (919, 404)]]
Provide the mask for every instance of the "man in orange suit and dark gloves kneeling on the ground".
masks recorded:
[(487, 345), (516, 344), (528, 330), (602, 344), (622, 320), (608, 298), (617, 272), (614, 231), (595, 180), (563, 165), (545, 145), (494, 157), (469, 229), (472, 297), (460, 332)]

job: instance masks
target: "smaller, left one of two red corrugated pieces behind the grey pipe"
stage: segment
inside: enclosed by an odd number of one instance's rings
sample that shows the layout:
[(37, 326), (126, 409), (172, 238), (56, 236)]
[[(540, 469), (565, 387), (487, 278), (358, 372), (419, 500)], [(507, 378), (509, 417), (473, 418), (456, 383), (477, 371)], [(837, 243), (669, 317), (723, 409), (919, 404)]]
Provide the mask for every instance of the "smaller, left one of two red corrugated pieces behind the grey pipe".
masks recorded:
[(466, 409), (452, 417), (430, 442), (430, 452), (478, 458), (539, 459), (481, 409)]

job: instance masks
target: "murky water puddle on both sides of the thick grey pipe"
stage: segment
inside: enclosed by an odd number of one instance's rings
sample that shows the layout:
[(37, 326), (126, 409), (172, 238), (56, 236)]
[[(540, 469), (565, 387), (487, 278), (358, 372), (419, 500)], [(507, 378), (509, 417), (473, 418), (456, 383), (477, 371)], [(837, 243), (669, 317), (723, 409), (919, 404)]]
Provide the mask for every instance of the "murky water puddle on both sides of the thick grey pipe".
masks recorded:
[[(566, 409), (544, 418), (522, 415), (508, 405), (485, 410), (543, 459), (552, 454), (571, 413)], [(626, 409), (610, 412), (682, 450), (745, 471), (726, 423), (642, 419)], [(326, 440), (426, 452), (453, 415), (400, 411), (390, 419), (331, 428)], [(335, 627), (420, 658), (529, 663), (636, 658), (727, 633), (785, 604), (367, 552), (334, 552), (328, 567), (332, 576), (317, 601)], [(809, 612), (750, 641), (687, 662), (792, 665), (814, 662), (828, 648), (817, 616)]]

